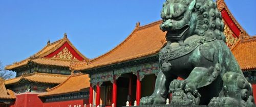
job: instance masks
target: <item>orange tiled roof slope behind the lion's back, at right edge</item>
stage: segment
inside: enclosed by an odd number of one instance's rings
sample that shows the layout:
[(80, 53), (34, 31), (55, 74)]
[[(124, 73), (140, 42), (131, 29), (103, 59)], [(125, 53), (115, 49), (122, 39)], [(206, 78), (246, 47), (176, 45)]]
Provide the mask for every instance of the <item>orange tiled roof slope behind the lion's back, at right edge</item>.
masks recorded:
[(243, 71), (256, 69), (256, 36), (240, 39), (231, 51)]

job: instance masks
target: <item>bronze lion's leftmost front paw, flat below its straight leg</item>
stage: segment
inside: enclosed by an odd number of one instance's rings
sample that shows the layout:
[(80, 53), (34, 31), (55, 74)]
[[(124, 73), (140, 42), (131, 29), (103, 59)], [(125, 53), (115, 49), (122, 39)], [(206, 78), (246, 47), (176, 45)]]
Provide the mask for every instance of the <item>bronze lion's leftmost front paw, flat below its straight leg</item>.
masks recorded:
[(148, 97), (142, 97), (140, 99), (140, 105), (150, 105), (150, 104), (165, 104), (165, 98), (148, 96)]

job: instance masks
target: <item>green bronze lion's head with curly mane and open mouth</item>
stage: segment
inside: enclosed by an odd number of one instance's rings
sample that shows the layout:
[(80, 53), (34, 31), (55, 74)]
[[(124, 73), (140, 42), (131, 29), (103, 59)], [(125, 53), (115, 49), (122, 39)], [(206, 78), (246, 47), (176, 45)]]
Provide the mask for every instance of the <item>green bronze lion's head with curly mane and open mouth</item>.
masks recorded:
[(166, 0), (160, 29), (167, 40), (185, 40), (191, 35), (215, 36), (225, 41), (221, 13), (212, 0)]

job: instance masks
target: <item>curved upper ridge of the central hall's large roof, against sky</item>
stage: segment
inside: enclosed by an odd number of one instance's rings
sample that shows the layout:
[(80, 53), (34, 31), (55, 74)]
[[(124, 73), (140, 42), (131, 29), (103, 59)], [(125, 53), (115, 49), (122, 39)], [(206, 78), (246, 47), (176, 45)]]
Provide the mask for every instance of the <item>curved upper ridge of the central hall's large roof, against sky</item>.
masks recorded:
[[(136, 26), (137, 26), (137, 25), (138, 25), (138, 24), (136, 23)], [(108, 52), (104, 53), (103, 55), (100, 55), (100, 56), (98, 56), (98, 57), (96, 57), (96, 58), (90, 60), (90, 63), (97, 61), (97, 60), (100, 59), (101, 57), (104, 57), (104, 56), (106, 56), (106, 55), (109, 55), (111, 52), (113, 52), (114, 50), (116, 50), (117, 48), (119, 48), (121, 45), (123, 45), (127, 40), (129, 40), (129, 39), (132, 37), (132, 35), (138, 30), (138, 28), (139, 28), (139, 27), (135, 27), (135, 29), (133, 30), (133, 32), (130, 33), (130, 35), (127, 36), (121, 43), (119, 43), (117, 46), (115, 46), (114, 48), (112, 48), (112, 49), (109, 50)], [(89, 64), (90, 64), (90, 63), (89, 63)]]

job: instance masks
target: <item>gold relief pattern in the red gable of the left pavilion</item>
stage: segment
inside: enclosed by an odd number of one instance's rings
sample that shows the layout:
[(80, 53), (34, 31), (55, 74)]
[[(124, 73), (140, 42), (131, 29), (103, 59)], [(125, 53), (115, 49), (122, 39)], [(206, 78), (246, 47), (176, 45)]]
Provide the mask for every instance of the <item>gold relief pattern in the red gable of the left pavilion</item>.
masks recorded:
[(57, 55), (53, 56), (53, 58), (77, 60), (67, 47), (63, 48)]

